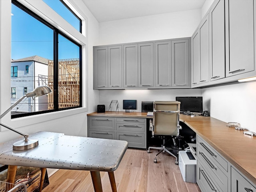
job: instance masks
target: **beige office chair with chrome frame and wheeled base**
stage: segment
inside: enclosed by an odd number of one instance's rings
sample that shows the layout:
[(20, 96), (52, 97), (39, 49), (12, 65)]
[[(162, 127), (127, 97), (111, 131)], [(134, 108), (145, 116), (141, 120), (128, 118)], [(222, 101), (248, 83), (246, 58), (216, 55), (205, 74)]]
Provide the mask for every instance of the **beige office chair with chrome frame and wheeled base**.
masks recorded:
[(155, 101), (154, 102), (154, 115), (153, 122), (150, 122), (150, 130), (152, 131), (152, 138), (161, 138), (162, 146), (161, 147), (152, 147), (148, 148), (148, 153), (150, 149), (161, 150), (156, 154), (154, 162), (156, 163), (156, 157), (161, 152), (168, 152), (170, 155), (176, 158), (175, 164), (178, 164), (178, 152), (177, 155), (174, 155), (169, 150), (179, 150), (179, 147), (176, 148), (166, 148), (165, 140), (168, 136), (171, 136), (174, 146), (176, 145), (176, 138), (179, 136), (179, 130), (181, 126), (179, 125), (179, 116), (180, 116), (180, 102), (178, 101)]

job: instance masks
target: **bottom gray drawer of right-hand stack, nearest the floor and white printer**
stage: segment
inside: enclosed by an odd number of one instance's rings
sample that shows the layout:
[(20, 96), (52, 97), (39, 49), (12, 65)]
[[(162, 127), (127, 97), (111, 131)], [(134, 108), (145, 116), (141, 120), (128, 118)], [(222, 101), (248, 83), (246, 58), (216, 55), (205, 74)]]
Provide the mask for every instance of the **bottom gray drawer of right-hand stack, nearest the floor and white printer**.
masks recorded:
[(202, 192), (222, 192), (210, 179), (210, 176), (207, 174), (207, 171), (204, 170), (200, 162), (197, 163), (197, 184)]

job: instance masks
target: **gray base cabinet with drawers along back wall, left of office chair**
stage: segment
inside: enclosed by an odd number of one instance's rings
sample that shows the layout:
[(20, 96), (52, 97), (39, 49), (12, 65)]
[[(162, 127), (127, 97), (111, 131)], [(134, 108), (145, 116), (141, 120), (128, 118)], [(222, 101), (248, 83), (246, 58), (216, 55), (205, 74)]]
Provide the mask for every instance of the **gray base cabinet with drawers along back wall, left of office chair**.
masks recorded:
[(94, 117), (88, 121), (88, 136), (125, 140), (128, 147), (146, 148), (146, 118)]

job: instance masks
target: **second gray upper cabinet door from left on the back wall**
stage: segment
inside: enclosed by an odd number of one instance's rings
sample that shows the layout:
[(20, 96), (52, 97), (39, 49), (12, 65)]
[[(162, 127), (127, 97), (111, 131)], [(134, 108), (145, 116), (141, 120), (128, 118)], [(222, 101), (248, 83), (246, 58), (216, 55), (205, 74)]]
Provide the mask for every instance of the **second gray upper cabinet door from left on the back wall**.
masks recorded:
[(108, 87), (122, 87), (122, 46), (108, 47)]

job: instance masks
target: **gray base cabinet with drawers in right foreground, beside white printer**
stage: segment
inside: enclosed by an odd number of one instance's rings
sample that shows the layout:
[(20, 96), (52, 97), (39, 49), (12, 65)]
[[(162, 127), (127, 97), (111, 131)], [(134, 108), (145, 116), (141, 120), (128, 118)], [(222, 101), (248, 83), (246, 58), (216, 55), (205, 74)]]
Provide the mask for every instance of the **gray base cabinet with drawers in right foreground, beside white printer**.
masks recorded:
[(202, 192), (256, 192), (256, 186), (200, 136), (196, 156), (196, 182)]

